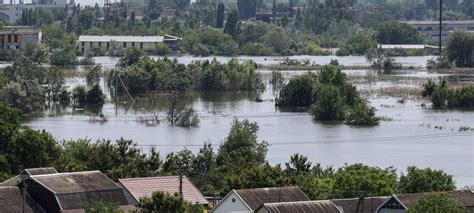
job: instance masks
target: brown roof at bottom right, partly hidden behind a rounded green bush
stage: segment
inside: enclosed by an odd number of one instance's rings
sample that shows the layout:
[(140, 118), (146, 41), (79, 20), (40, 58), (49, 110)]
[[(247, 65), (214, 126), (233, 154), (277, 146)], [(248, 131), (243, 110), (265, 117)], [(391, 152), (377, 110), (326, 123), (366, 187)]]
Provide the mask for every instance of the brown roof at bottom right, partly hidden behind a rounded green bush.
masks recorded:
[[(459, 190), (446, 192), (448, 195), (459, 201), (465, 207), (474, 207), (474, 193), (470, 190)], [(408, 208), (412, 206), (418, 199), (428, 193), (410, 193), (400, 194), (396, 197)]]

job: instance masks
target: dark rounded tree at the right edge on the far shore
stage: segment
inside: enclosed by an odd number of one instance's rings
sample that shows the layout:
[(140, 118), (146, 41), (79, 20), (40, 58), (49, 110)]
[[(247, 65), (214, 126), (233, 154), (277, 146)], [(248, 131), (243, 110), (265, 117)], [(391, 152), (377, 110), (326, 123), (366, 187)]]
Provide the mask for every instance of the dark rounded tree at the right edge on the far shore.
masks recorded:
[(456, 31), (446, 45), (447, 59), (457, 67), (474, 67), (474, 35)]

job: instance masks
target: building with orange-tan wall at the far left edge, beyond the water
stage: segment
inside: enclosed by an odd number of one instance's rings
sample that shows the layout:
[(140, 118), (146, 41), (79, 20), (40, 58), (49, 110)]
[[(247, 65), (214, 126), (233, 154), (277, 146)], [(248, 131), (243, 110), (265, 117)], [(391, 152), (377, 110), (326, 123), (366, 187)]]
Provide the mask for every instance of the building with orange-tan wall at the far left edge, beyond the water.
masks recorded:
[(27, 44), (38, 44), (41, 42), (41, 29), (30, 26), (5, 26), (0, 30), (0, 48), (19, 49)]

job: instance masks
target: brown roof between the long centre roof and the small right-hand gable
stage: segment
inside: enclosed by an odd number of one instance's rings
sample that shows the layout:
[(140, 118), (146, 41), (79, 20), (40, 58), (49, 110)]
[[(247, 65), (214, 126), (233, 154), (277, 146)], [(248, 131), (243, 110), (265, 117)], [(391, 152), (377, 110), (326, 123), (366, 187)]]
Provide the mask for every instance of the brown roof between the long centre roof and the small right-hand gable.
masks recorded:
[[(341, 207), (344, 212), (353, 213), (372, 213), (384, 203), (389, 196), (383, 197), (366, 197), (363, 200), (359, 198), (348, 198), (348, 199), (334, 199), (331, 200), (336, 206)], [(360, 203), (359, 203), (360, 202)], [(357, 209), (359, 206), (359, 209)]]

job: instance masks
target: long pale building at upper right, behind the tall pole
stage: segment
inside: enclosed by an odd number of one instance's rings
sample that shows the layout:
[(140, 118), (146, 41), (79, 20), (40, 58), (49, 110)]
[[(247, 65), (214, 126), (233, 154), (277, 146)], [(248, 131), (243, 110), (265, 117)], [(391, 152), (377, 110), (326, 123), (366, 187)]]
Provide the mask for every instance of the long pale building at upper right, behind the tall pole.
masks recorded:
[[(415, 27), (428, 38), (439, 39), (439, 21), (405, 21), (404, 23)], [(446, 39), (457, 30), (466, 30), (474, 33), (474, 20), (443, 21), (441, 38)]]

